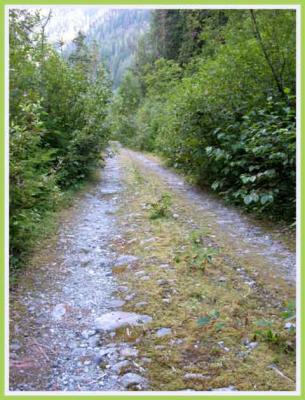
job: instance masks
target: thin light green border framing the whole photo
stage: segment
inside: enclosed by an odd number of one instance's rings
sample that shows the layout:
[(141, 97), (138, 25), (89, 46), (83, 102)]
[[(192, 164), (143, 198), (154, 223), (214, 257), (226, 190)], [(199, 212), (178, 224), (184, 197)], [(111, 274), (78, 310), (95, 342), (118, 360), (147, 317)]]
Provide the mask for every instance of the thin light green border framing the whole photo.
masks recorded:
[[(8, 239), (5, 238), (5, 225), (8, 223), (6, 221), (6, 205), (5, 205), (5, 199), (7, 197), (7, 192), (6, 192), (6, 177), (8, 171), (6, 170), (7, 166), (5, 165), (5, 26), (4, 26), (4, 20), (5, 20), (5, 6), (7, 5), (77, 5), (77, 4), (83, 4), (86, 6), (89, 5), (110, 5), (110, 6), (115, 6), (115, 5), (242, 5), (242, 6), (259, 6), (259, 5), (287, 5), (287, 6), (300, 6), (300, 11), (301, 11), (301, 32), (300, 32), (300, 40), (301, 43), (299, 45), (299, 51), (301, 52), (301, 65), (299, 66), (299, 79), (301, 80), (299, 88), (300, 92), (298, 93), (298, 123), (299, 123), (299, 132), (300, 138), (298, 141), (298, 155), (299, 155), (299, 164), (297, 165), (298, 169), (298, 175), (299, 175), (299, 190), (298, 190), (298, 195), (300, 196), (299, 198), (299, 207), (298, 207), (298, 212), (299, 212), (299, 226), (298, 226), (298, 243), (297, 243), (297, 248), (299, 248), (300, 251), (300, 279), (301, 279), (301, 289), (300, 289), (300, 299), (301, 299), (301, 310), (299, 310), (299, 315), (303, 315), (303, 318), (301, 318), (300, 321), (300, 327), (301, 330), (299, 331), (299, 337), (301, 338), (301, 343), (300, 343), (300, 359), (301, 359), (301, 371), (300, 371), (300, 384), (301, 384), (301, 393), (300, 395), (290, 395), (290, 394), (284, 394), (284, 395), (259, 395), (255, 394), (249, 394), (249, 395), (239, 395), (238, 392), (235, 394), (227, 394), (227, 395), (217, 395), (215, 392), (213, 394), (205, 394), (205, 395), (191, 395), (190, 394), (181, 394), (181, 396), (176, 396), (176, 395), (144, 395), (139, 392), (139, 395), (135, 395), (133, 393), (130, 394), (122, 394), (122, 395), (96, 395), (94, 392), (90, 395), (75, 395), (75, 394), (67, 394), (67, 395), (55, 395), (50, 392), (50, 394), (47, 395), (27, 395), (26, 392), (24, 394), (5, 394), (5, 319), (8, 318), (7, 315), (5, 315), (5, 304), (6, 304), (6, 299), (5, 299), (5, 254), (6, 254), (6, 247), (8, 243)], [(92, 399), (92, 398), (101, 398), (101, 399), (122, 399), (122, 398), (137, 398), (137, 399), (153, 399), (153, 398), (160, 398), (160, 399), (173, 399), (178, 397), (179, 399), (189, 399), (189, 398), (196, 398), (196, 399), (212, 399), (212, 400), (220, 400), (220, 399), (228, 399), (228, 400), (233, 400), (233, 399), (304, 399), (305, 400), (305, 318), (304, 318), (304, 313), (305, 313), (305, 296), (304, 296), (304, 286), (305, 286), (305, 247), (303, 246), (302, 248), (302, 237), (304, 237), (305, 233), (305, 163), (302, 164), (302, 159), (305, 157), (305, 122), (304, 122), (304, 115), (305, 115), (305, 99), (302, 100), (302, 94), (304, 97), (305, 93), (305, 76), (304, 73), (302, 75), (302, 69), (304, 70), (305, 68), (305, 51), (303, 49), (304, 47), (304, 42), (305, 42), (305, 0), (252, 0), (252, 1), (244, 1), (244, 0), (235, 0), (235, 1), (218, 1), (218, 0), (187, 0), (181, 1), (181, 0), (113, 0), (113, 1), (101, 1), (101, 0), (91, 0), (91, 1), (84, 1), (84, 0), (28, 0), (28, 1), (20, 1), (20, 0), (0, 0), (0, 126), (2, 129), (0, 129), (0, 160), (1, 160), (1, 166), (0, 166), (0, 270), (1, 270), (1, 277), (0, 277), (0, 331), (1, 331), (1, 342), (0, 342), (0, 400), (2, 399), (20, 399), (20, 398), (35, 398), (37, 400), (40, 399), (48, 399), (48, 398), (56, 398), (56, 399), (74, 399), (75, 397), (81, 397), (82, 399)], [(303, 118), (301, 118), (303, 116)]]

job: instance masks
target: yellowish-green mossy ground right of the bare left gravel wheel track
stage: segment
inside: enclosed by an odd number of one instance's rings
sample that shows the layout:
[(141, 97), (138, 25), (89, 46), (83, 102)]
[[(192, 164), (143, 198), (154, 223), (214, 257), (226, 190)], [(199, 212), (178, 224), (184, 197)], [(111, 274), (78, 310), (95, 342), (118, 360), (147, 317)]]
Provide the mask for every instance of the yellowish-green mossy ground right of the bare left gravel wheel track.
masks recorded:
[[(114, 272), (135, 293), (124, 309), (153, 321), (120, 330), (116, 340), (138, 340), (140, 354), (151, 359), (151, 389), (294, 390), (294, 332), (284, 328), (282, 316), (294, 288), (280, 277), (275, 282), (255, 260), (243, 264), (240, 273), (238, 257), (229, 246), (219, 246), (205, 215), (126, 154), (120, 160), (127, 190), (118, 221), (125, 234), (113, 246), (139, 261)], [(151, 219), (149, 205), (165, 192), (171, 194), (170, 216)], [(210, 261), (200, 258), (202, 249), (215, 250)], [(161, 327), (172, 333), (157, 337)], [(247, 341), (258, 346), (249, 351)], [(186, 379), (187, 373), (202, 376)]]

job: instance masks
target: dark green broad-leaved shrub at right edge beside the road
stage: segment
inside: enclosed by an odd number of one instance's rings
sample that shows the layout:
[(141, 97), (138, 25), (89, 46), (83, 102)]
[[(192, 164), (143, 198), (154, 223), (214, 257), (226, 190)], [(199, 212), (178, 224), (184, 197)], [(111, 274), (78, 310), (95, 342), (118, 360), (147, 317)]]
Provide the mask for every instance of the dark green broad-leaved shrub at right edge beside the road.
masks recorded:
[(264, 108), (249, 112), (239, 123), (216, 129), (214, 135), (218, 145), (206, 147), (211, 188), (249, 210), (271, 210), (285, 219), (293, 219), (293, 106), (269, 97)]

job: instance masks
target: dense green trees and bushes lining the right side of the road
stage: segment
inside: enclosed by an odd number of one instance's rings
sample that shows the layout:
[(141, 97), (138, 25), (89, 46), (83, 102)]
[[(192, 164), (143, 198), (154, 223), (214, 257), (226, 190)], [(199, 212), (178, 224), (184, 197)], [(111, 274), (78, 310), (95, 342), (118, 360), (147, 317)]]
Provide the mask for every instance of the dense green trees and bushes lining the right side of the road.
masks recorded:
[(122, 143), (292, 223), (295, 11), (153, 11), (110, 122)]

